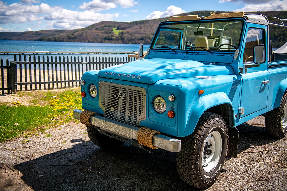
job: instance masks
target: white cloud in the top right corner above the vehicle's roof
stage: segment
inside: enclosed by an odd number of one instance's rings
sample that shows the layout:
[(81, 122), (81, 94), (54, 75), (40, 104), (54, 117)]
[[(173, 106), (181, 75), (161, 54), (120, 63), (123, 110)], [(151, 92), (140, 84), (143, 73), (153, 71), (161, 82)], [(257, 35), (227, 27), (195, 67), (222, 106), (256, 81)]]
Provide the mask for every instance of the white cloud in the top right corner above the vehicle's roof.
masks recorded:
[[(244, 12), (252, 12), (252, 11), (282, 11), (287, 10), (287, 0), (279, 1), (273, 0), (270, 3), (260, 3), (256, 4), (257, 1), (250, 1), (245, 4), (243, 8), (235, 9), (233, 11), (244, 11)], [(269, 2), (269, 1), (268, 1)]]

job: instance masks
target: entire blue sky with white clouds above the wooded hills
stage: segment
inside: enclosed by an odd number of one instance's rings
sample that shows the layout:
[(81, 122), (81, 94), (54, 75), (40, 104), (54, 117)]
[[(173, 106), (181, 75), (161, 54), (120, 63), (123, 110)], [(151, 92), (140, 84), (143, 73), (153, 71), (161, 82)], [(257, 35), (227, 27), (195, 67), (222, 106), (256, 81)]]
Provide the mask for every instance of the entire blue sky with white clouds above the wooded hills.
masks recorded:
[(287, 0), (9, 0), (0, 1), (0, 32), (77, 29), (191, 11), (287, 10)]

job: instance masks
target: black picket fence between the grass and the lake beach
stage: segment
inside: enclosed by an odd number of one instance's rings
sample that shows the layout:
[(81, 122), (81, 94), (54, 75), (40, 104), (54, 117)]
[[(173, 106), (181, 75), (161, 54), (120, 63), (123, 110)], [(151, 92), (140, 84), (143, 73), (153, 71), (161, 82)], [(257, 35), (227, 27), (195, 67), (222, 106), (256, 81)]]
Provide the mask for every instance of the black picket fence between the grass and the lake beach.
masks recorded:
[(41, 56), (21, 55), (17, 61), (0, 60), (0, 92), (2, 95), (22, 90), (46, 90), (80, 86), (80, 79), (88, 70), (101, 70), (110, 66), (135, 60), (131, 57), (76, 57), (76, 56)]

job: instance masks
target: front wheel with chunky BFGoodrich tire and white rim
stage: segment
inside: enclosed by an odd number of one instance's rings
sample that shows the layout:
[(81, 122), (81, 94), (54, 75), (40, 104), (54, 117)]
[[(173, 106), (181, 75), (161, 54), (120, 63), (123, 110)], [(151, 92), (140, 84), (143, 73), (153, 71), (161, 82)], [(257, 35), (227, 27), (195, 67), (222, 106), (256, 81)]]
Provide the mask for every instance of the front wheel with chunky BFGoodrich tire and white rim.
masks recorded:
[[(212, 135), (215, 142), (215, 148), (208, 159), (204, 159), (204, 149), (206, 142), (212, 141)], [(216, 138), (216, 139), (215, 139)], [(220, 148), (221, 147), (221, 148)], [(228, 131), (224, 119), (215, 113), (206, 112), (199, 119), (194, 133), (181, 139), (181, 151), (177, 153), (177, 170), (181, 179), (187, 184), (197, 188), (210, 187), (220, 174), (227, 154)], [(219, 160), (216, 160), (218, 158)], [(211, 159), (210, 163), (205, 163)], [(214, 162), (212, 162), (214, 160)], [(204, 165), (207, 165), (203, 167)], [(205, 172), (210, 168), (210, 172)], [(212, 167), (214, 166), (214, 167)]]

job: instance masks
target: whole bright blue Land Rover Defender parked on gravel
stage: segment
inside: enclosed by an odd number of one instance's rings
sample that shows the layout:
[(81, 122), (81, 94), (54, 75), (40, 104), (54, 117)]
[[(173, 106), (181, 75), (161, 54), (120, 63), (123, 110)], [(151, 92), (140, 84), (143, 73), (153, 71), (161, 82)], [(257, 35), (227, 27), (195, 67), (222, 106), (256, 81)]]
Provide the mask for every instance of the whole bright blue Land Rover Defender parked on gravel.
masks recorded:
[(243, 12), (171, 17), (144, 58), (141, 45), (139, 60), (83, 74), (85, 111), (74, 118), (88, 120), (99, 147), (177, 152), (182, 180), (208, 188), (226, 156), (237, 155), (236, 126), (264, 114), (269, 135), (286, 135), (287, 43), (272, 51), (269, 40), (269, 26), (287, 27), (286, 20)]

